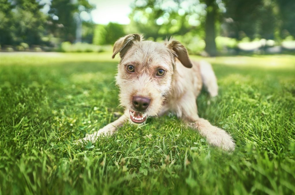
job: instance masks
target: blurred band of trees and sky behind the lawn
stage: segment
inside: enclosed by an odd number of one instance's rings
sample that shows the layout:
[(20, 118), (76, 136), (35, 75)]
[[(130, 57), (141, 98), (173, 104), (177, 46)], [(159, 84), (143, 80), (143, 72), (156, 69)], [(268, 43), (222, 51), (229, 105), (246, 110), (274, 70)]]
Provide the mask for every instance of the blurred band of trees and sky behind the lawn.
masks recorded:
[(102, 52), (125, 34), (203, 56), (295, 52), (294, 0), (0, 0), (1, 51)]

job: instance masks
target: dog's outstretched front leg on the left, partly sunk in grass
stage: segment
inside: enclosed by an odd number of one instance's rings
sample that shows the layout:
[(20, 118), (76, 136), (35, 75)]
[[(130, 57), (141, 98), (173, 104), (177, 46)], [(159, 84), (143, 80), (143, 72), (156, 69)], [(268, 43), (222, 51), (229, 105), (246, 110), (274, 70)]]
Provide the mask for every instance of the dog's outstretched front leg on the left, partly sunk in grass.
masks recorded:
[(125, 111), (124, 114), (120, 118), (115, 120), (114, 122), (104, 126), (103, 128), (99, 129), (98, 131), (92, 134), (86, 134), (84, 138), (79, 139), (77, 142), (82, 143), (83, 140), (95, 142), (100, 135), (107, 135), (108, 133), (112, 135), (117, 131), (119, 127), (121, 127), (128, 120), (129, 117), (130, 117), (129, 112)]

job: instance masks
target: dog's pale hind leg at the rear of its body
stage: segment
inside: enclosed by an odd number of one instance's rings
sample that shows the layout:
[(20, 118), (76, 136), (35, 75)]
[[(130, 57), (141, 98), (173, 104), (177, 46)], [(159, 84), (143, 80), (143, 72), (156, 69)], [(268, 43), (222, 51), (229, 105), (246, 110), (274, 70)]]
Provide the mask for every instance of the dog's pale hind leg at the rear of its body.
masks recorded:
[(212, 69), (211, 64), (206, 61), (200, 61), (200, 70), (202, 75), (202, 81), (211, 95), (211, 97), (215, 97), (218, 95), (218, 85), (217, 79)]

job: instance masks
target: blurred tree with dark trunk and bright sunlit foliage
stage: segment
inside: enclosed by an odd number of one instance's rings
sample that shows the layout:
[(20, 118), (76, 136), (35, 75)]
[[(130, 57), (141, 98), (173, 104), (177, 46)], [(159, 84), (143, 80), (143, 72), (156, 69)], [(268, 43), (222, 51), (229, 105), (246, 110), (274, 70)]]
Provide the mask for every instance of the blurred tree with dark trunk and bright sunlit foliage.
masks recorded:
[[(204, 1), (162, 1), (147, 0), (132, 5), (130, 19), (138, 31), (154, 40), (194, 32), (204, 36), (205, 50), (215, 56), (215, 24), (219, 8), (215, 0)], [(142, 2), (142, 1), (140, 1)], [(172, 3), (173, 2), (173, 3)], [(222, 2), (222, 1), (221, 1)], [(220, 2), (219, 2), (220, 3)], [(206, 10), (206, 11), (205, 11)], [(205, 33), (203, 33), (205, 30)]]

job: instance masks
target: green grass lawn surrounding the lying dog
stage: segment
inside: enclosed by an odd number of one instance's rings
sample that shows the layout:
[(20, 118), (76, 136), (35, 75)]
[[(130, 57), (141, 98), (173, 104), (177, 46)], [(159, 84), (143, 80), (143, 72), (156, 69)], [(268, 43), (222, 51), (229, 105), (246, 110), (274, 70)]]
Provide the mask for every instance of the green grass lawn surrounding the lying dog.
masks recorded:
[(1, 53), (0, 194), (294, 194), (295, 56), (207, 60), (219, 96), (203, 91), (199, 115), (233, 136), (232, 154), (172, 115), (74, 145), (123, 112), (118, 58)]

